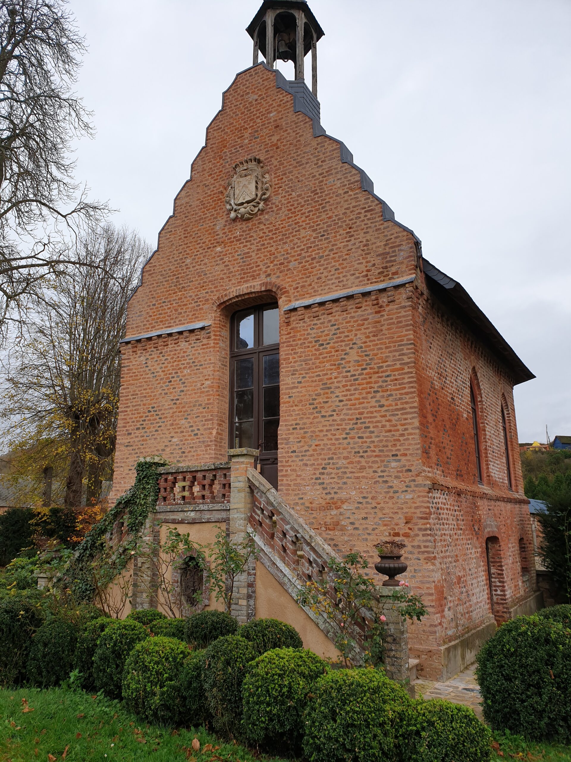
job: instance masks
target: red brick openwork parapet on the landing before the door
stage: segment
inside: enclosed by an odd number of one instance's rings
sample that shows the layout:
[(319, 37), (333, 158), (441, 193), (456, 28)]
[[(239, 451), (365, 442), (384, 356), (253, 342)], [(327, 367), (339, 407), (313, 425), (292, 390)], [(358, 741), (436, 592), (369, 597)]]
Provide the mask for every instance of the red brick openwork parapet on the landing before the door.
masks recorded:
[(230, 463), (164, 469), (158, 479), (158, 507), (230, 503)]

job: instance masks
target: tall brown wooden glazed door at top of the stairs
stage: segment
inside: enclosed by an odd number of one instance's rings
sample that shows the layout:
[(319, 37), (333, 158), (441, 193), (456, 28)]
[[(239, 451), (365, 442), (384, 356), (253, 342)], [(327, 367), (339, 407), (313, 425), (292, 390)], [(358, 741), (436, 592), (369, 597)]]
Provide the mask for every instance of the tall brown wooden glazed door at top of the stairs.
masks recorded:
[(260, 472), (278, 488), (279, 309), (241, 310), (231, 319), (230, 447), (260, 450)]

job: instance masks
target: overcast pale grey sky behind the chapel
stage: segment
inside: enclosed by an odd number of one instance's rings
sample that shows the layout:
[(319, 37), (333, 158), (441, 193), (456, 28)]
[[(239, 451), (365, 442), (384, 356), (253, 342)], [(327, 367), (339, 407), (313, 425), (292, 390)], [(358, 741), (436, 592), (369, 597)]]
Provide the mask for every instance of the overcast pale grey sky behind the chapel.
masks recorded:
[[(153, 246), (260, 2), (70, 2), (97, 127), (76, 176)], [(538, 376), (515, 389), (520, 441), (571, 434), (571, 0), (310, 5), (325, 129)]]

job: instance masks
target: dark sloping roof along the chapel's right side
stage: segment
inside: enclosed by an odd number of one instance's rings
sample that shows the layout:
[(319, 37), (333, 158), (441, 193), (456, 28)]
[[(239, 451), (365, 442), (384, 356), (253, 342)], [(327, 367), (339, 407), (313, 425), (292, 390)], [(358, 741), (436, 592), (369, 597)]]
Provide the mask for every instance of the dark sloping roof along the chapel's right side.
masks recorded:
[(458, 280), (449, 277), (425, 258), (423, 258), (423, 270), (429, 279), (427, 283), (429, 288), (512, 371), (515, 384), (535, 378)]

